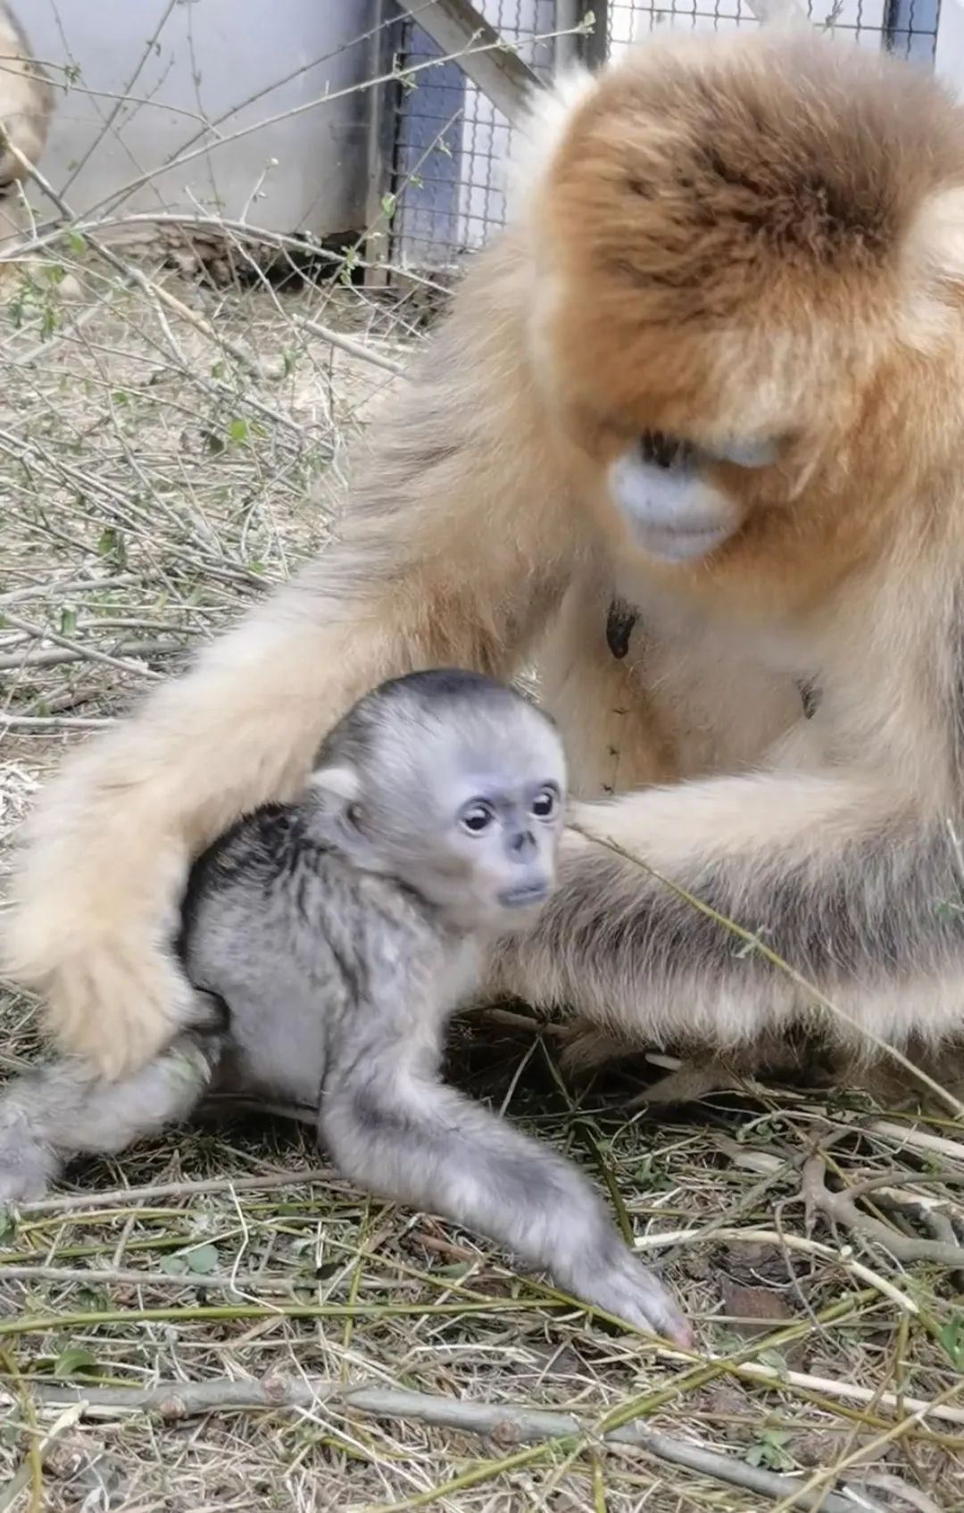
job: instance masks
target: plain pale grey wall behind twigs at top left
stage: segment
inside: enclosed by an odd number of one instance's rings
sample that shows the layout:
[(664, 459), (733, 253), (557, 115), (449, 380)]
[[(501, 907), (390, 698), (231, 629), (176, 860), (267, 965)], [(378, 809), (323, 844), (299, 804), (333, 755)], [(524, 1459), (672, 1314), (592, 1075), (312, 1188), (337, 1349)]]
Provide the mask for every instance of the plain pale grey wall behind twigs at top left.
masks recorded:
[[(76, 210), (88, 212), (153, 174), (126, 200), (127, 209), (200, 204), (271, 230), (306, 227), (316, 235), (365, 224), (368, 94), (315, 104), (230, 138), (369, 79), (374, 48), (357, 41), (372, 24), (369, 0), (12, 0), (12, 6), (35, 54), (62, 85), (42, 166), (58, 188), (68, 186)], [(148, 47), (159, 26), (156, 45)], [(110, 121), (115, 95), (130, 98)], [(206, 123), (218, 121), (206, 130)], [(156, 172), (191, 139), (210, 153)], [(271, 157), (277, 166), (268, 166)]]

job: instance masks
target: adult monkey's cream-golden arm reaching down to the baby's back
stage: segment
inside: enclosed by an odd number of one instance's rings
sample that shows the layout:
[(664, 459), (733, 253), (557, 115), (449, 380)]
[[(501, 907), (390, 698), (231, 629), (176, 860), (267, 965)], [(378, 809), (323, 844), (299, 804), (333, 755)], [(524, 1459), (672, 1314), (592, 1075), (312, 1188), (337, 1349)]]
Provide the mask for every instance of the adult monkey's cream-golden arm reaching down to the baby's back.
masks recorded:
[(54, 1041), (106, 1076), (186, 1012), (168, 940), (191, 856), (291, 793), (365, 688), (439, 663), (507, 673), (557, 601), (578, 522), (513, 346), (519, 278), (508, 241), (480, 259), (377, 422), (339, 540), (42, 794), (6, 965), (45, 996)]

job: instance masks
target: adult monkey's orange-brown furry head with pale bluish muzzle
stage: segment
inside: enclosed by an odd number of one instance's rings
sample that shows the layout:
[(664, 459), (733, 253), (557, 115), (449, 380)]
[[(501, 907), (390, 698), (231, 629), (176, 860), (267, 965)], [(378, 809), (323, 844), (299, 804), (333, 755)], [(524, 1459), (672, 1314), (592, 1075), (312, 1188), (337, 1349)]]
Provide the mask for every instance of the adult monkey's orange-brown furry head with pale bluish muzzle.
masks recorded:
[(648, 44), (577, 106), (537, 191), (533, 350), (627, 549), (838, 563), (854, 511), (885, 513), (928, 381), (943, 401), (911, 257), (964, 185), (949, 112), (808, 35)]

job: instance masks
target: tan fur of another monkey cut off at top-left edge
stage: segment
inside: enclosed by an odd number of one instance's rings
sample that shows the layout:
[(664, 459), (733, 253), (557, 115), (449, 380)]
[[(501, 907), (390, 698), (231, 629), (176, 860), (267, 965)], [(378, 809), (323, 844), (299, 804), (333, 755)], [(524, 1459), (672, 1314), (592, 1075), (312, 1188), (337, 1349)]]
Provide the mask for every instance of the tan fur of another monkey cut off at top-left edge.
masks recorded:
[[(0, 245), (27, 230), (23, 200), (26, 169), (9, 150), (36, 163), (47, 145), (53, 117), (53, 86), (32, 57), (30, 42), (11, 8), (0, 0)], [(0, 274), (11, 263), (0, 263)]]

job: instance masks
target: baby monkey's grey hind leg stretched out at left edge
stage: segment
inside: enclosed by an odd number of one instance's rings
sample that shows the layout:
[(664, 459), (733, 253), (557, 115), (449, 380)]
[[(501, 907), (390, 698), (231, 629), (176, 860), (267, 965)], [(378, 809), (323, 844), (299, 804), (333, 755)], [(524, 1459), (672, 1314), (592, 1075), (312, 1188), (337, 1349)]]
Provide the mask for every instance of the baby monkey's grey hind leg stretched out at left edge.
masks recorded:
[(79, 1061), (15, 1077), (0, 1095), (0, 1203), (41, 1198), (71, 1156), (114, 1154), (186, 1118), (219, 1052), (219, 1036), (186, 1033), (121, 1082)]

